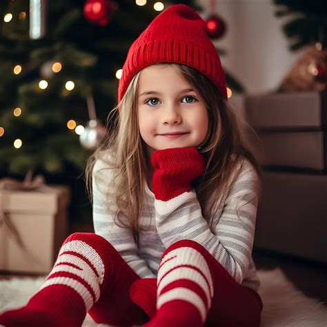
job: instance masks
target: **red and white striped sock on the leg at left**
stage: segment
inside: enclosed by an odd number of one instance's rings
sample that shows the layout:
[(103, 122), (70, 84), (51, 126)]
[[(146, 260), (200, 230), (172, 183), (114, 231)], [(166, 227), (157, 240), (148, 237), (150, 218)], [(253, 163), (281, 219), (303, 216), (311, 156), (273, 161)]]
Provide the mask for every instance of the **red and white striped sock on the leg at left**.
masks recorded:
[(108, 241), (99, 235), (70, 235), (39, 292), (25, 307), (0, 315), (0, 325), (81, 326), (107, 284), (108, 267), (102, 259), (105, 252)]

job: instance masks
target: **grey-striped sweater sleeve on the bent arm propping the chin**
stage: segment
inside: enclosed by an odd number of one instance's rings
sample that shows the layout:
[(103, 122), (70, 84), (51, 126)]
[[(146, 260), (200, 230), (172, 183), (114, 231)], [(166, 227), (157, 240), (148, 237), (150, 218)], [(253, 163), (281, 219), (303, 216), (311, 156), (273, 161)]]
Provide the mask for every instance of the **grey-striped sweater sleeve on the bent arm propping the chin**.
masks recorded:
[(169, 201), (156, 199), (156, 224), (161, 241), (166, 248), (181, 239), (197, 241), (241, 284), (252, 257), (257, 182), (257, 172), (246, 160), (225, 197), (220, 217), (215, 217), (218, 222), (213, 233), (202, 216), (194, 189)]

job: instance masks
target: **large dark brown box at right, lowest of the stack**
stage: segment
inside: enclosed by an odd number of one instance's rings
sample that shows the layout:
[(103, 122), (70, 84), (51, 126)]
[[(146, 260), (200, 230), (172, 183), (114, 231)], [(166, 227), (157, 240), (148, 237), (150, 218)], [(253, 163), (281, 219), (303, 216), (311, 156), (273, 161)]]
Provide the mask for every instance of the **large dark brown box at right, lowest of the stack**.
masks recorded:
[(264, 172), (255, 248), (327, 263), (327, 175)]

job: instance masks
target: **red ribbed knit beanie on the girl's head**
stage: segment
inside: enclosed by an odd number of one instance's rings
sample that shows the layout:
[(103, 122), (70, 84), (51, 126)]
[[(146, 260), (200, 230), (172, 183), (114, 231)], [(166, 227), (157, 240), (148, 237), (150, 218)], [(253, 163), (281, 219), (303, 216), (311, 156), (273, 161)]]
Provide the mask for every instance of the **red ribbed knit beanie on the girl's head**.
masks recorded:
[(206, 34), (206, 22), (184, 4), (161, 12), (128, 50), (119, 81), (121, 101), (132, 77), (154, 63), (181, 63), (209, 77), (227, 99), (226, 75), (218, 52)]

